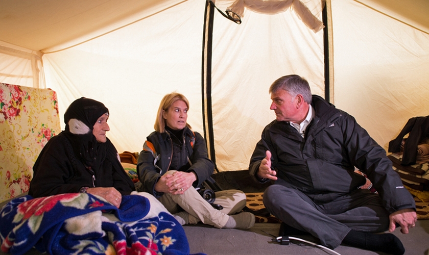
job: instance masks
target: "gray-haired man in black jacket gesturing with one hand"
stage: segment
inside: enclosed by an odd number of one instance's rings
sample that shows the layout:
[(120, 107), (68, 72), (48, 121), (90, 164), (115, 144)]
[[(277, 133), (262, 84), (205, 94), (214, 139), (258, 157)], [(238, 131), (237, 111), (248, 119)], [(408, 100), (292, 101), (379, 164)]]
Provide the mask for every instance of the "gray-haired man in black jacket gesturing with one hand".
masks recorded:
[[(407, 234), (417, 216), (415, 202), (392, 169), (386, 151), (346, 112), (318, 95), (299, 75), (287, 75), (270, 87), (268, 124), (250, 160), (267, 210), (282, 221), (279, 235), (311, 234), (336, 248), (341, 243), (403, 254), (391, 233)], [(362, 186), (368, 176), (377, 192)]]

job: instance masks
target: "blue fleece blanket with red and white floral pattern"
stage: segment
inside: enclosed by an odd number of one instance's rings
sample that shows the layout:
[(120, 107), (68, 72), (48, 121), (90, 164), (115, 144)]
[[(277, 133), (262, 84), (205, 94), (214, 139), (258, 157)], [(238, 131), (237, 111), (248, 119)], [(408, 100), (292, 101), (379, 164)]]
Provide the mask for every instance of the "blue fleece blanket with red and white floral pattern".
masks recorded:
[(183, 227), (148, 193), (101, 197), (68, 193), (11, 200), (0, 211), (3, 252), (35, 247), (49, 254), (189, 254)]

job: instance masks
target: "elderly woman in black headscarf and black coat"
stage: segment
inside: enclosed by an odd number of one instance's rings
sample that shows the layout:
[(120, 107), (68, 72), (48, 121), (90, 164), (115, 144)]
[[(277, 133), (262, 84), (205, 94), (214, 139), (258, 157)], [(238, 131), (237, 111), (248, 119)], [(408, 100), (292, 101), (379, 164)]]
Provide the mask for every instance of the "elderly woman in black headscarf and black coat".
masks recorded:
[(65, 131), (46, 143), (33, 166), (29, 195), (86, 192), (121, 205), (134, 184), (106, 137), (109, 110), (99, 101), (79, 98), (64, 114)]

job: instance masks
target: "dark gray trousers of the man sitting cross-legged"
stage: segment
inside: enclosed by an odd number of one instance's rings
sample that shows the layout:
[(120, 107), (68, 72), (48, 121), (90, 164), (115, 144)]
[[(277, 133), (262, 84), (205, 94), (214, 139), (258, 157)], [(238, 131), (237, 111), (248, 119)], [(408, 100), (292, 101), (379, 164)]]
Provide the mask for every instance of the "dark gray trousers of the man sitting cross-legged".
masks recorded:
[(264, 192), (264, 205), (284, 223), (319, 238), (331, 249), (339, 246), (351, 229), (379, 233), (389, 228), (389, 213), (379, 195), (369, 190), (318, 204), (299, 190), (273, 184)]

